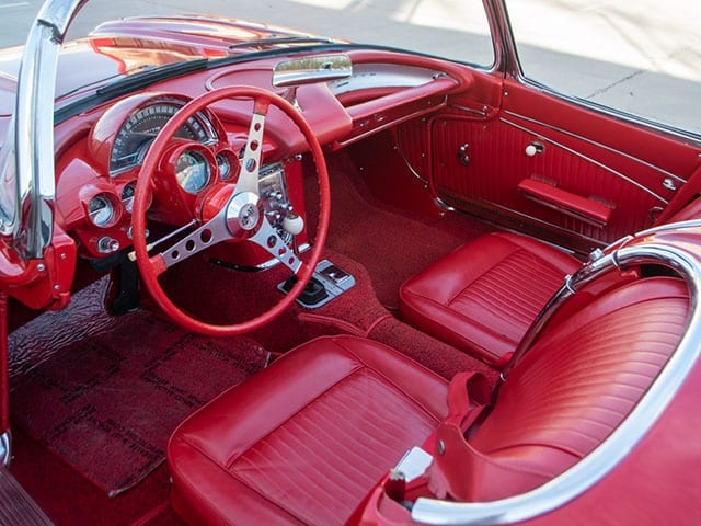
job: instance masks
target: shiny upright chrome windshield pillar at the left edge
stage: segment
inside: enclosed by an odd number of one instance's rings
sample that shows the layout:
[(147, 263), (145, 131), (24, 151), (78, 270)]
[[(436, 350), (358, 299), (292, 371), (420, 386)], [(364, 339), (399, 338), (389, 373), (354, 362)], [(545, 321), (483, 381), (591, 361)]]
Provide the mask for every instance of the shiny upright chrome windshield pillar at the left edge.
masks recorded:
[(0, 153), (0, 233), (24, 259), (41, 259), (54, 226), (54, 98), (58, 54), (88, 0), (47, 0), (30, 30), (14, 115)]

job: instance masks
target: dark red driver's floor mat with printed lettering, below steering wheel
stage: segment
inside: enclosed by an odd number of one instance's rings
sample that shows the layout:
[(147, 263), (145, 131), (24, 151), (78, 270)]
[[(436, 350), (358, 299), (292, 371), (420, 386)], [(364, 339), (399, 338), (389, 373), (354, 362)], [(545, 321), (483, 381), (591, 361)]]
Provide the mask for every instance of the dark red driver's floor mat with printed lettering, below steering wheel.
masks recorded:
[(95, 301), (103, 285), (12, 333), (11, 397), (18, 425), (116, 495), (164, 460), (187, 414), (262, 369), (268, 353), (250, 339), (195, 335), (148, 312), (108, 317)]

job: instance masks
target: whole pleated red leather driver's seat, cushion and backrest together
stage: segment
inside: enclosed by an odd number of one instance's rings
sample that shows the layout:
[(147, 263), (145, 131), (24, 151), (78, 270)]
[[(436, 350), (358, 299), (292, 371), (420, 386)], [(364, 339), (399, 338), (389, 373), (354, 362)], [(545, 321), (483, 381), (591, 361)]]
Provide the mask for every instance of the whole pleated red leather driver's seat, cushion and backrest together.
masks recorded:
[[(688, 311), (685, 284), (655, 277), (547, 330), (469, 434), (473, 454), (451, 464), (466, 500), (532, 489), (606, 439), (674, 351)], [(434, 453), (447, 392), (377, 342), (314, 340), (181, 424), (168, 447), (173, 505), (197, 525), (344, 524), (405, 450)]]

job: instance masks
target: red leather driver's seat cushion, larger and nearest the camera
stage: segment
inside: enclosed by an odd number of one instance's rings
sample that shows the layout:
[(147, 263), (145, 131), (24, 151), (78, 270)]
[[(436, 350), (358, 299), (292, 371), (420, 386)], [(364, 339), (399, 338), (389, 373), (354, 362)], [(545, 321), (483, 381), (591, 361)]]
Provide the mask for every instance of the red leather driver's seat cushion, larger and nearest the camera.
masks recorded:
[(223, 392), (168, 446), (192, 524), (342, 524), (445, 416), (446, 381), (377, 342), (322, 338)]

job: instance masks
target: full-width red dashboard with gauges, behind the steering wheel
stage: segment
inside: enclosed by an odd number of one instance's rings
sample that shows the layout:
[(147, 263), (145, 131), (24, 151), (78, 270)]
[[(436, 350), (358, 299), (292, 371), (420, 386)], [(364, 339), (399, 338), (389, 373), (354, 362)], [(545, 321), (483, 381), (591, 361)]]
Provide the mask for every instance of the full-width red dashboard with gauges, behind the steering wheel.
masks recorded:
[[(333, 150), (434, 112), (448, 93), (469, 87), (467, 68), (389, 52), (350, 53), (354, 73), (343, 81), (299, 85), (291, 93), (320, 144)], [(96, 105), (56, 126), (57, 211), (79, 242), (79, 254), (103, 259), (130, 247), (136, 183), (149, 146), (169, 119), (197, 95), (219, 87), (272, 85), (276, 60), (244, 62), (169, 79), (148, 91)], [(438, 69), (440, 65), (444, 69)], [(163, 151), (153, 178), (149, 218), (183, 226), (202, 217), (204, 196), (232, 185), (241, 170), (252, 114), (250, 100), (225, 100), (195, 113)], [(276, 226), (304, 214), (301, 133), (275, 107), (265, 119), (261, 187)], [(290, 236), (278, 228), (284, 239)], [(307, 241), (307, 232), (297, 237)], [(264, 264), (258, 254), (249, 263)]]

